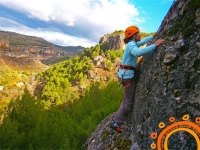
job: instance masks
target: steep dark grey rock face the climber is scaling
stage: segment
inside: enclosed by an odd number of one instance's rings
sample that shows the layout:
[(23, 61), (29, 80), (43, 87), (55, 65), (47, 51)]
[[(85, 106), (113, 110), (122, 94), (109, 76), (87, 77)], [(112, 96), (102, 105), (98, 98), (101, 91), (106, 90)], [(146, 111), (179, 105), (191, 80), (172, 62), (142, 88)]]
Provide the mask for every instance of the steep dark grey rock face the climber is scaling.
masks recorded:
[[(86, 142), (88, 150), (145, 150), (151, 149), (152, 143), (158, 147), (157, 139), (153, 140), (150, 134), (162, 132), (160, 122), (165, 127), (173, 124), (169, 121), (171, 116), (175, 123), (187, 120), (200, 128), (195, 123), (200, 117), (199, 12), (197, 0), (174, 1), (153, 40), (164, 38), (165, 44), (145, 56), (134, 107), (122, 126), (123, 133), (110, 129), (114, 117), (111, 114)], [(189, 120), (182, 118), (185, 114)], [(200, 139), (200, 129), (195, 131)], [(197, 142), (189, 132), (178, 131), (170, 136), (167, 146), (191, 150), (197, 149)]]

